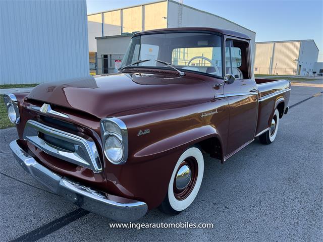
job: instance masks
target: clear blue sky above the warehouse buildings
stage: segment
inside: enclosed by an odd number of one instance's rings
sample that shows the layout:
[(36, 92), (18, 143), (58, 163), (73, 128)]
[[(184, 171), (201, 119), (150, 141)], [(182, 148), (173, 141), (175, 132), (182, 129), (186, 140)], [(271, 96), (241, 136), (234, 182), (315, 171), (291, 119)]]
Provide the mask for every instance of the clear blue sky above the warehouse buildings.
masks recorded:
[[(154, 2), (87, 0), (87, 13)], [(314, 39), (323, 62), (323, 1), (184, 0), (184, 4), (219, 15), (256, 32), (256, 41)]]

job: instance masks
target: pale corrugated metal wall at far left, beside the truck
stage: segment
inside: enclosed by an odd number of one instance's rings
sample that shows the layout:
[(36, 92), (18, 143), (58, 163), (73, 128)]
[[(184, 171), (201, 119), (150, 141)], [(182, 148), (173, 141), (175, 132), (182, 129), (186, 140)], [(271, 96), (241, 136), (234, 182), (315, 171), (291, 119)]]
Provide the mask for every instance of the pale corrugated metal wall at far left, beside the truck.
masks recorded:
[(86, 1), (0, 1), (0, 83), (89, 74)]

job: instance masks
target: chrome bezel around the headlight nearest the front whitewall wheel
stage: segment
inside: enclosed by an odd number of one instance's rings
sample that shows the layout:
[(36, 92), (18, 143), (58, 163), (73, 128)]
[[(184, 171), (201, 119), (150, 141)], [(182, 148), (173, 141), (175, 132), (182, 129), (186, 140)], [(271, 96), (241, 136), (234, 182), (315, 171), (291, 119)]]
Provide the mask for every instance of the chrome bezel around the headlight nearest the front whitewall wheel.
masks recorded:
[[(109, 125), (111, 127), (114, 126), (117, 129), (109, 130), (107, 129), (107, 126)], [(128, 159), (128, 130), (125, 123), (117, 117), (103, 118), (101, 119), (101, 122), (100, 122), (100, 129), (101, 129), (102, 148), (107, 160), (109, 160), (112, 164), (115, 164), (115, 165), (122, 165), (126, 163)], [(109, 138), (110, 136), (114, 136), (122, 144), (123, 155), (119, 161), (113, 161), (106, 153), (105, 142), (106, 142), (106, 139)]]

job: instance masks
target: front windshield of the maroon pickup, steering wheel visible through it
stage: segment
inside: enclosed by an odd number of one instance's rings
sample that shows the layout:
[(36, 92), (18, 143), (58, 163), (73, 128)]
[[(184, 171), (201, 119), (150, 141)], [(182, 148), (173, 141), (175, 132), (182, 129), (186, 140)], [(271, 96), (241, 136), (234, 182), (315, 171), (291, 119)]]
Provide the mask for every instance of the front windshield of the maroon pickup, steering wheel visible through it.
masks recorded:
[[(221, 37), (208, 33), (160, 33), (139, 35), (131, 39), (121, 68), (128, 66), (168, 68), (223, 77)], [(139, 60), (149, 61), (138, 62)], [(173, 69), (172, 69), (173, 70)]]

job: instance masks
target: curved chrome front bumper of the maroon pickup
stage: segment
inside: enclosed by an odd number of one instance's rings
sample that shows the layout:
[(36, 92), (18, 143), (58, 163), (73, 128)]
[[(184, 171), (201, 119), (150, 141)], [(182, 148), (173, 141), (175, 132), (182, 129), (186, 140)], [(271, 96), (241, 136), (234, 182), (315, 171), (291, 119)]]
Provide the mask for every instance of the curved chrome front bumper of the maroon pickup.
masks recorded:
[(135, 221), (147, 212), (144, 202), (102, 193), (50, 171), (27, 154), (17, 140), (9, 146), (18, 163), (36, 180), (85, 210), (121, 222)]

